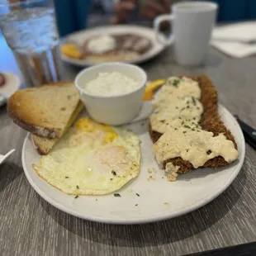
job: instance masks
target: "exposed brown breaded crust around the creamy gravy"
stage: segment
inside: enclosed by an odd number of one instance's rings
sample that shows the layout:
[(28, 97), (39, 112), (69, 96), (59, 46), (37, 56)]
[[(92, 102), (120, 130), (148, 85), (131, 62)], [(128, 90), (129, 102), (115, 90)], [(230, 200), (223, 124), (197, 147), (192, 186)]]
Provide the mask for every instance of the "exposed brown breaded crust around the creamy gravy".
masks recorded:
[[(201, 88), (201, 99), (200, 102), (204, 108), (203, 115), (201, 116), (200, 126), (203, 130), (211, 131), (214, 135), (219, 135), (223, 133), (228, 140), (232, 140), (235, 144), (235, 149), (237, 149), (237, 145), (235, 142), (234, 136), (231, 134), (230, 130), (228, 130), (224, 123), (220, 120), (220, 115), (218, 112), (218, 93), (216, 88), (212, 85), (211, 80), (206, 76), (195, 76), (188, 77), (197, 81), (199, 87)], [(149, 135), (151, 140), (155, 143), (162, 134), (157, 131), (152, 130), (149, 124)], [(165, 165), (171, 162), (175, 166), (179, 166), (178, 173), (187, 173), (189, 169), (192, 169), (193, 166), (188, 161), (184, 161), (182, 158), (168, 159), (164, 161)], [(220, 166), (228, 165), (228, 163), (222, 157), (218, 156), (214, 159), (210, 159), (203, 165), (203, 167), (209, 168), (217, 168)]]

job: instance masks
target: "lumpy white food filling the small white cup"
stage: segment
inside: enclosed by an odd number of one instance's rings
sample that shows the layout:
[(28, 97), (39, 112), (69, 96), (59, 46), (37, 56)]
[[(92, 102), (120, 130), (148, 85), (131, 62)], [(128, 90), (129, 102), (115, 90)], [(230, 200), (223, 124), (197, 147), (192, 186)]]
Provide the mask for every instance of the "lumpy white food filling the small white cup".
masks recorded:
[(97, 96), (116, 96), (133, 92), (140, 83), (118, 72), (99, 73), (97, 78), (84, 85), (85, 92)]

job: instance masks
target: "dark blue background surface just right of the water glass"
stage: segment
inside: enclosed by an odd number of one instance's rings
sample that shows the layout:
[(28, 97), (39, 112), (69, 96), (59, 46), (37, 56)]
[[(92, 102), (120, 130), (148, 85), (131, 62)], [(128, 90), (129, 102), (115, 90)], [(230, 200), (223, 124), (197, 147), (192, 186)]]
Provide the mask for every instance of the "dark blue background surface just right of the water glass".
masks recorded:
[(92, 0), (54, 0), (59, 36), (66, 36), (86, 27)]

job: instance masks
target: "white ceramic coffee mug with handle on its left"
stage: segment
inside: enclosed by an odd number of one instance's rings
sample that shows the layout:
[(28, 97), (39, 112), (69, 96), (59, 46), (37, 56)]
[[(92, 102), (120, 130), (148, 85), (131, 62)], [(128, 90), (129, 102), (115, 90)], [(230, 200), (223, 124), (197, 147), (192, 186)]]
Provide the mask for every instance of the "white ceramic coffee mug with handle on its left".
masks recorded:
[[(164, 45), (174, 44), (178, 64), (203, 64), (209, 48), (211, 31), (216, 21), (218, 5), (214, 2), (180, 2), (173, 4), (172, 13), (154, 20), (157, 40)], [(168, 39), (159, 36), (159, 26), (170, 21), (173, 33)]]

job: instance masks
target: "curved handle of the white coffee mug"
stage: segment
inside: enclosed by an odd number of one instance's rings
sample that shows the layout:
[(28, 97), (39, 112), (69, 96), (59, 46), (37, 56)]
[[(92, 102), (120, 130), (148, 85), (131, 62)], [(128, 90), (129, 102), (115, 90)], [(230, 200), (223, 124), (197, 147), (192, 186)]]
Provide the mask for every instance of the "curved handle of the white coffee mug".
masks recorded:
[(159, 17), (156, 17), (154, 19), (154, 32), (155, 32), (155, 36), (156, 36), (156, 40), (161, 44), (161, 45), (172, 45), (173, 44), (173, 40), (174, 40), (174, 36), (170, 35), (169, 38), (163, 38), (160, 37), (159, 35), (159, 26), (161, 25), (161, 23), (163, 21), (173, 21), (174, 20), (174, 16), (173, 14), (164, 14), (164, 15), (160, 15)]

